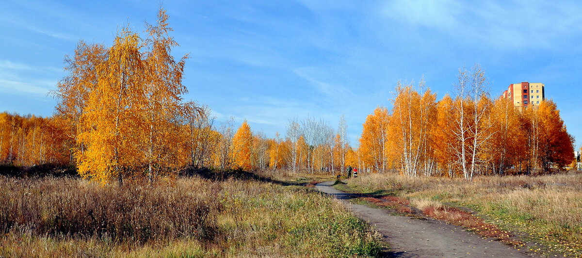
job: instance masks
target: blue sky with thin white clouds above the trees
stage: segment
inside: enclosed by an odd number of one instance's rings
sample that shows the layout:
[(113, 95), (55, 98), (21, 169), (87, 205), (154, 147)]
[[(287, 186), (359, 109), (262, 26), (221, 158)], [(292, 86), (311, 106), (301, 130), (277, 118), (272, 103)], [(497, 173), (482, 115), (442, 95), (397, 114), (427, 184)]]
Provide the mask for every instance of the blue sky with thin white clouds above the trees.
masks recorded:
[[(110, 45), (118, 27), (143, 31), (159, 1), (0, 1), (0, 112), (48, 116), (49, 90), (77, 41)], [(177, 57), (190, 53), (186, 100), (224, 121), (285, 134), (293, 116), (333, 128), (346, 115), (352, 144), (365, 117), (390, 107), (398, 80), (453, 93), (457, 71), (480, 63), (491, 96), (510, 83), (545, 83), (546, 97), (582, 143), (579, 1), (165, 1)]]

